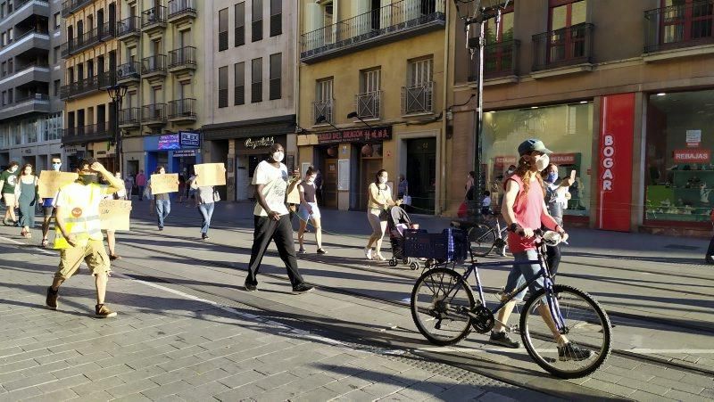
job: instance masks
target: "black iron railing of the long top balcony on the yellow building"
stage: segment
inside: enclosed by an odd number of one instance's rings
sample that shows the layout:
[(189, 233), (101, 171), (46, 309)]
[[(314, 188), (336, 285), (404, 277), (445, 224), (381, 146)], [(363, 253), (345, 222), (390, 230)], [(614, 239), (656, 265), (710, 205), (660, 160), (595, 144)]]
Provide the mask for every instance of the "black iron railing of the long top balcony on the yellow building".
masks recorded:
[(301, 59), (446, 20), (446, 0), (403, 0), (301, 36)]

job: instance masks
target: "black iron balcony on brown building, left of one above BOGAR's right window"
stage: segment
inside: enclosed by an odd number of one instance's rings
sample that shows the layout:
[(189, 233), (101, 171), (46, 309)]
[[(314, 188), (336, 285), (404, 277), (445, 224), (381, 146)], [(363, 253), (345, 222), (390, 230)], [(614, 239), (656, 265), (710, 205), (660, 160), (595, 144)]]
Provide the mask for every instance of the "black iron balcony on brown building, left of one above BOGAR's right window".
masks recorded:
[(577, 24), (533, 36), (533, 70), (585, 65), (592, 70), (593, 24)]

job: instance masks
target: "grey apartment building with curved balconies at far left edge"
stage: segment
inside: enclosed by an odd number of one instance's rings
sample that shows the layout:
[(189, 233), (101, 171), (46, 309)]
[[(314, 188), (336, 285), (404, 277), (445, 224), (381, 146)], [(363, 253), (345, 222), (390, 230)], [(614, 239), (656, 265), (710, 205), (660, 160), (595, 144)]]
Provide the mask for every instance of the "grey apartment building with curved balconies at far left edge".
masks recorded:
[(58, 2), (0, 1), (0, 168), (62, 153), (63, 37)]

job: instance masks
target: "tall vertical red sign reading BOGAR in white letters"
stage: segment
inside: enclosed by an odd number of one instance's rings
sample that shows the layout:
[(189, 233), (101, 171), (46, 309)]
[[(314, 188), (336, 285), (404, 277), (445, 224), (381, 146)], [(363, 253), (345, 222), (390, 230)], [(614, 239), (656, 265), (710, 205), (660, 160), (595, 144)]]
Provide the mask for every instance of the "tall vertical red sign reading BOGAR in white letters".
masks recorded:
[(597, 227), (628, 232), (632, 203), (635, 94), (602, 98)]

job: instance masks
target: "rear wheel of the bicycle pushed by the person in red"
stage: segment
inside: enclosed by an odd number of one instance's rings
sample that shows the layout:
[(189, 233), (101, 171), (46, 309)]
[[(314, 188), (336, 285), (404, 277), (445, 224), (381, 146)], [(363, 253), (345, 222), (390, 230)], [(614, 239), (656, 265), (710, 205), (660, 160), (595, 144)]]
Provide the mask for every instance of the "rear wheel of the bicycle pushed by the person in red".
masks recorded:
[(438, 267), (421, 275), (411, 291), (411, 317), (419, 332), (435, 345), (453, 345), (471, 329), (474, 296), (452, 269)]

